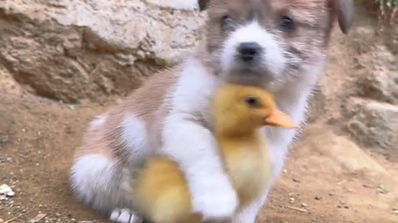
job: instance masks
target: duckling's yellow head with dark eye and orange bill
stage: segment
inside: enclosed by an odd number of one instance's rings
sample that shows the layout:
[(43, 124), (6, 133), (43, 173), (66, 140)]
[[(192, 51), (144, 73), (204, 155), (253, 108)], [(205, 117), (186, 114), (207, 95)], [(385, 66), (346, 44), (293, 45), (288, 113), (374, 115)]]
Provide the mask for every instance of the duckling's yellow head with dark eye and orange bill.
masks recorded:
[(262, 126), (297, 128), (272, 94), (252, 86), (225, 84), (213, 98), (216, 131), (251, 131)]

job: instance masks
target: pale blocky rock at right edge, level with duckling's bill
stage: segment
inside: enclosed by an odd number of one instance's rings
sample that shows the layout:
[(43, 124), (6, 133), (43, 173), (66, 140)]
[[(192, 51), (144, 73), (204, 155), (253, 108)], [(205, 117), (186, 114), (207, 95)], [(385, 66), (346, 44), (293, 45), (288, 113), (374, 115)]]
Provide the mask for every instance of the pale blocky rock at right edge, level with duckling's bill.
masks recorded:
[(346, 127), (352, 137), (366, 146), (398, 149), (398, 106), (350, 98)]

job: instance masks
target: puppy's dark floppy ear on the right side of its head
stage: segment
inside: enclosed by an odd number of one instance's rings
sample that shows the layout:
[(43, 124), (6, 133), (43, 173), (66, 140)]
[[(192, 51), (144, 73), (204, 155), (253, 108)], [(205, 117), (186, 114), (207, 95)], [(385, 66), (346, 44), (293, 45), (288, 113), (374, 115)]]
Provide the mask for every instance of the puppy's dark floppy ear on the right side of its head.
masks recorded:
[(354, 19), (353, 0), (328, 0), (332, 12), (337, 15), (337, 21), (341, 32), (347, 34), (352, 26)]

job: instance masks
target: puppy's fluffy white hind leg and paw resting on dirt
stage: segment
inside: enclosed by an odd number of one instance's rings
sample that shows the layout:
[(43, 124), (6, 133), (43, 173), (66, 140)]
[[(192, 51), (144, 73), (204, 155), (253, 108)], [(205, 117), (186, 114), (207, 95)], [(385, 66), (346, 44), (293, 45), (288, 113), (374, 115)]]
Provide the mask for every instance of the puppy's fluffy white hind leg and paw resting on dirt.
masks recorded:
[(132, 202), (123, 181), (119, 164), (103, 154), (78, 157), (70, 172), (72, 192), (80, 202), (114, 222), (139, 223), (142, 219), (128, 209)]

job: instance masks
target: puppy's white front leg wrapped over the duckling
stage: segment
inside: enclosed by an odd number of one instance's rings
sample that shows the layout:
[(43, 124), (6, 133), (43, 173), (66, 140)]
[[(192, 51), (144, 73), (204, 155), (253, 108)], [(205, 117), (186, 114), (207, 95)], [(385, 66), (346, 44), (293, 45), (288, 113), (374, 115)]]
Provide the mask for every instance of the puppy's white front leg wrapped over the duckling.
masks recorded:
[(166, 118), (162, 153), (182, 169), (192, 198), (194, 213), (203, 220), (228, 219), (237, 208), (236, 192), (224, 173), (212, 133), (185, 113)]

